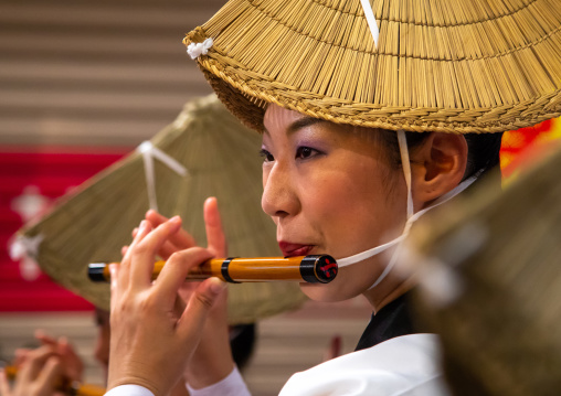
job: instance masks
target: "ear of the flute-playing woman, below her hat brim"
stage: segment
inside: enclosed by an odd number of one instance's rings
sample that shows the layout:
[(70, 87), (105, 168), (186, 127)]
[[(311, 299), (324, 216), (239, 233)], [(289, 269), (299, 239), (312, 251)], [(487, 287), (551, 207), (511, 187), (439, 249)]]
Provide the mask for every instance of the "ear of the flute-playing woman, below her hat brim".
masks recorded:
[(459, 184), (467, 165), (467, 142), (456, 133), (432, 132), (411, 153), (415, 211)]

